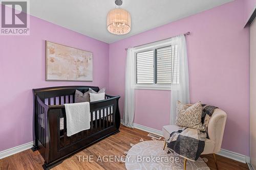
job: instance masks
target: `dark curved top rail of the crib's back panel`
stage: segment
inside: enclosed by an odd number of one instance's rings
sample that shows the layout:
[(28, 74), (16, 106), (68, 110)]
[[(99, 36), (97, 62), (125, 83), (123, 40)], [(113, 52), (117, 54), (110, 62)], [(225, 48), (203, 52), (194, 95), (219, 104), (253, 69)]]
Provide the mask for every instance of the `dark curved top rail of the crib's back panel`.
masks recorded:
[(99, 91), (96, 86), (59, 86), (33, 89), (34, 97), (37, 95), (41, 101), (47, 98), (55, 98), (57, 96), (74, 95), (76, 90), (86, 92), (89, 88)]

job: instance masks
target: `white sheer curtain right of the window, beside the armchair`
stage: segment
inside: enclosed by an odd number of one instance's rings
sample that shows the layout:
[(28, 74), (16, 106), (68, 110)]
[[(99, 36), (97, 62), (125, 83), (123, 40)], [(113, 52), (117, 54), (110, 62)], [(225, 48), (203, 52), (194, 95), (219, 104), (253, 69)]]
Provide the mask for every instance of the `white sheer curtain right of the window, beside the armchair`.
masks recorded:
[[(189, 78), (188, 78), (188, 63), (187, 63), (187, 47), (184, 35), (179, 35), (171, 39), (172, 46), (177, 45), (177, 57), (179, 64), (179, 85), (172, 87), (170, 97), (170, 124), (175, 124), (177, 116), (177, 101), (189, 104)], [(172, 79), (173, 81), (174, 79)], [(173, 83), (172, 83), (173, 84)]]

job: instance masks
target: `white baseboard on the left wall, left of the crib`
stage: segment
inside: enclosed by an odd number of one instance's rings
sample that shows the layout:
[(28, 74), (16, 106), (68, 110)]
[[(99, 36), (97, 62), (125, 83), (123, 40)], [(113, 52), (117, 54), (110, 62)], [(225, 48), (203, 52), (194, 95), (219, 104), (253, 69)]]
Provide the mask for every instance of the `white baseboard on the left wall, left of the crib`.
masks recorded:
[(31, 142), (28, 142), (28, 143), (25, 143), (25, 144), (22, 144), (22, 145), (19, 145), (17, 147), (14, 147), (14, 148), (10, 148), (10, 149), (7, 149), (5, 151), (1, 151), (0, 152), (0, 159), (3, 159), (5, 157), (8, 157), (8, 156), (11, 156), (11, 155), (14, 155), (16, 153), (19, 153), (19, 152), (22, 152), (22, 151), (25, 151), (25, 150), (28, 150), (30, 148), (33, 147), (33, 141)]

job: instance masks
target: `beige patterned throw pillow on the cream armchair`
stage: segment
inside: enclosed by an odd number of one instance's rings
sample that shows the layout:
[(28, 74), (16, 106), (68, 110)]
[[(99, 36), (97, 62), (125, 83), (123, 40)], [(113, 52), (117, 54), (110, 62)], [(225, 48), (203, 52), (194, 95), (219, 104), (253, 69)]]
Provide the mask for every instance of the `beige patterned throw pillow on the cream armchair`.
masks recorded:
[(183, 105), (180, 101), (177, 102), (177, 117), (176, 117), (177, 126), (205, 131), (201, 122), (201, 116), (202, 116), (201, 102), (197, 102), (196, 104), (190, 107)]

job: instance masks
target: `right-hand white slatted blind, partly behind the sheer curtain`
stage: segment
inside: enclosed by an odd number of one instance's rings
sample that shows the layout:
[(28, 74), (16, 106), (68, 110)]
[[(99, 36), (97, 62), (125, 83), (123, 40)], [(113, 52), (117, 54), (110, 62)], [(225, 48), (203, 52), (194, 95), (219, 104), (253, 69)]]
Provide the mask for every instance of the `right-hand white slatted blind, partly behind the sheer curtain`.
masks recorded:
[(158, 84), (179, 84), (177, 45), (156, 49)]

